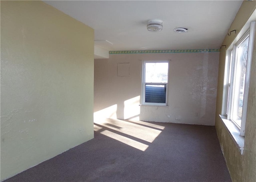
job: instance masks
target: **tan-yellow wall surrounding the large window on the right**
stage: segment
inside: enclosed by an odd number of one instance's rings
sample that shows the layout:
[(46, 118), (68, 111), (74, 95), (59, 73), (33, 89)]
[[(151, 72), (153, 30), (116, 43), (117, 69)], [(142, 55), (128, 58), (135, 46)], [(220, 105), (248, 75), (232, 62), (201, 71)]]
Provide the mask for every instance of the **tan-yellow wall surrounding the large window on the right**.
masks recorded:
[[(240, 32), (252, 12), (256, 9), (256, 2), (244, 1), (238, 11), (231, 27), (231, 30)], [(254, 12), (256, 17), (256, 14)], [(226, 36), (222, 45), (231, 44), (236, 37)], [(256, 181), (256, 41), (254, 40), (254, 52), (252, 58), (252, 67), (250, 75), (250, 88), (248, 95), (248, 109), (246, 115), (246, 130), (245, 130), (245, 146), (244, 154), (241, 155), (234, 141), (226, 130), (222, 120), (219, 118), (222, 108), (223, 80), (225, 68), (225, 53), (226, 49), (222, 48), (220, 52), (220, 64), (218, 73), (218, 94), (216, 104), (216, 131), (220, 141), (220, 146), (223, 150), (224, 157), (230, 171), (230, 176), (233, 182), (254, 182)]]

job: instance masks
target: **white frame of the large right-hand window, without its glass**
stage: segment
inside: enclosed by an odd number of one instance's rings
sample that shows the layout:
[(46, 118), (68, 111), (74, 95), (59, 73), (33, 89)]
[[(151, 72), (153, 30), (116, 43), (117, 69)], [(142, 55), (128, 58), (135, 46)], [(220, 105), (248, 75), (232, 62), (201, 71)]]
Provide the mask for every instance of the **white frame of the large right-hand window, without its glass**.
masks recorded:
[[(248, 90), (249, 90), (249, 82), (250, 82), (250, 70), (252, 64), (252, 53), (253, 53), (253, 45), (254, 45), (254, 34), (255, 34), (255, 22), (250, 23), (250, 29), (246, 31), (243, 36), (240, 36), (239, 40), (235, 40), (232, 42), (230, 47), (226, 52), (226, 66), (225, 66), (225, 74), (224, 74), (224, 92), (223, 92), (223, 102), (222, 102), (222, 116), (226, 116), (227, 120), (230, 120), (234, 126), (238, 129), (240, 136), (244, 136), (245, 134), (245, 124), (246, 124), (246, 112), (247, 112), (247, 101), (248, 101)], [(238, 126), (234, 121), (231, 120), (232, 116), (232, 105), (234, 100), (234, 72), (235, 72), (235, 63), (236, 63), (236, 48), (249, 36), (249, 44), (248, 44), (248, 53), (247, 53), (247, 64), (246, 64), (246, 76), (245, 76), (245, 84), (244, 84), (244, 98), (243, 98), (243, 108), (242, 108), (242, 119), (241, 126)], [(233, 52), (232, 52), (233, 51)], [(230, 54), (232, 52), (232, 60), (230, 65)], [(231, 74), (230, 74), (231, 68)], [(229, 74), (232, 76), (230, 80), (230, 91), (229, 88)], [(223, 117), (222, 117), (223, 118)]]

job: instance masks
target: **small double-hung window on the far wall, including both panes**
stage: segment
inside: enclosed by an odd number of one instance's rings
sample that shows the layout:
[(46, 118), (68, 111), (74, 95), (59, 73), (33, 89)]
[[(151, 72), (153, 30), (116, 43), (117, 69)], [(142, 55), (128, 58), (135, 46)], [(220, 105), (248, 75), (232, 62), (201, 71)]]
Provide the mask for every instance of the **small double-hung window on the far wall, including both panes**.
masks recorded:
[(144, 61), (142, 71), (142, 104), (167, 105), (168, 61)]

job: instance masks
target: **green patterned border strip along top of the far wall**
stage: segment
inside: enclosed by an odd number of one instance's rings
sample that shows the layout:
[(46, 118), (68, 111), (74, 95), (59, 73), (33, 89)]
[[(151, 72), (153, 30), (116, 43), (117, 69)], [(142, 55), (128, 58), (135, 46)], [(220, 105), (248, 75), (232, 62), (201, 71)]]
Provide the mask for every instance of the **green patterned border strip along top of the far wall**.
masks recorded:
[(121, 51), (110, 51), (109, 54), (191, 53), (191, 52), (220, 52), (220, 49), (190, 49), (190, 50), (121, 50)]

